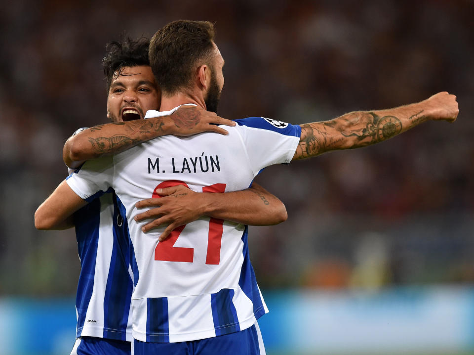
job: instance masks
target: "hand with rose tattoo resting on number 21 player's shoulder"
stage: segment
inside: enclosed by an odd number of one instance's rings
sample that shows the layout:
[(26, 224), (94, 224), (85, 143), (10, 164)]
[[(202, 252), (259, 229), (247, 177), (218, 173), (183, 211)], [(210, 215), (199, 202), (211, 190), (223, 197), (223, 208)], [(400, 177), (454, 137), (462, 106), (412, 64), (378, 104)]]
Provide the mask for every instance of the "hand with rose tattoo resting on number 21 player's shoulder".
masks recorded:
[(217, 125), (235, 126), (231, 120), (217, 116), (214, 112), (209, 112), (198, 106), (181, 106), (172, 115), (170, 134), (187, 136), (196, 133), (211, 131), (220, 134), (228, 132)]

